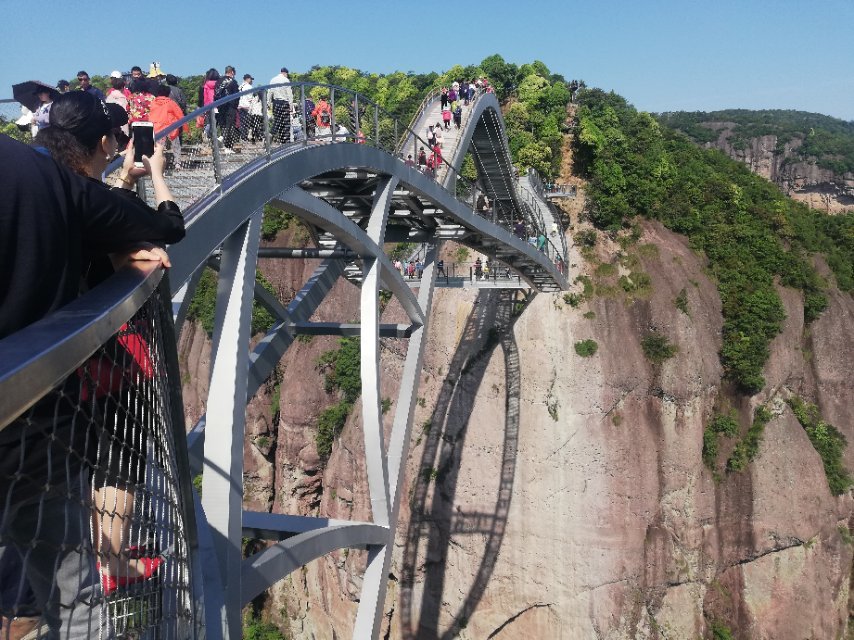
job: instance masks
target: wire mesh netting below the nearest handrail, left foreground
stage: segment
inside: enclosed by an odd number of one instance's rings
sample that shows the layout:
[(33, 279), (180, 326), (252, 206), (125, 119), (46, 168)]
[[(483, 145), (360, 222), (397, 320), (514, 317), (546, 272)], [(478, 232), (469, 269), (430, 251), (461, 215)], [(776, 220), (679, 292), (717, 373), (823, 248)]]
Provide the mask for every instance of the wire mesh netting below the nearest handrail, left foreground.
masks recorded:
[(0, 431), (4, 640), (194, 634), (168, 305), (155, 291)]

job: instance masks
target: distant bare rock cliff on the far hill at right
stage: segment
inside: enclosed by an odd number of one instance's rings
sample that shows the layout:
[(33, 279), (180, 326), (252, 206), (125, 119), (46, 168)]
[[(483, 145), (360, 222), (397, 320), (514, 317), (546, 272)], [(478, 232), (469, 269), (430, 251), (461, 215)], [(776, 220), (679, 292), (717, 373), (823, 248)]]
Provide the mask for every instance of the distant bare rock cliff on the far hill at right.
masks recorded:
[(795, 138), (778, 148), (777, 136), (760, 136), (741, 148), (730, 141), (733, 123), (713, 122), (705, 126), (720, 132), (716, 141), (705, 145), (707, 148), (720, 149), (743, 162), (795, 200), (828, 213), (854, 208), (854, 174), (839, 175), (799, 159), (793, 152), (801, 145), (800, 139)]

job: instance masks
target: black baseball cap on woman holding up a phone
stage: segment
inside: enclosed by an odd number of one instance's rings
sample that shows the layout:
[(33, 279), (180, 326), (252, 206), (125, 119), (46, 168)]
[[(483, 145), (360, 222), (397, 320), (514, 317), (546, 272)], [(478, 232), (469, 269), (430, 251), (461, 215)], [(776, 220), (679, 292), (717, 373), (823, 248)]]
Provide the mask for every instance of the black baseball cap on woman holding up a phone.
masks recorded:
[(68, 131), (87, 147), (128, 123), (127, 111), (85, 91), (63, 93), (50, 107), (50, 126)]

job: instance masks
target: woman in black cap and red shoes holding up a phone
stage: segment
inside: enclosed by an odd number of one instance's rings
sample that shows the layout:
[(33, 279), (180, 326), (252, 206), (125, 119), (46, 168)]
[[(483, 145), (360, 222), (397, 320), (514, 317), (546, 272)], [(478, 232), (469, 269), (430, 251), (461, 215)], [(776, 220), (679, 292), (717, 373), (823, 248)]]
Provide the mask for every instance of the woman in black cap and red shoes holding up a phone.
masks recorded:
[[(50, 127), (39, 135), (37, 144), (58, 162), (64, 163), (76, 173), (92, 180), (100, 180), (101, 174), (115, 157), (121, 136), (120, 127), (127, 123), (127, 112), (116, 104), (107, 104), (82, 91), (60, 96), (53, 103), (50, 112)], [(134, 167), (133, 144), (128, 145), (125, 161), (119, 172), (115, 187), (128, 197), (136, 198), (129, 191), (139, 177), (151, 176), (154, 197), (158, 204), (157, 215), (180, 214), (178, 206), (172, 201), (172, 194), (163, 178), (165, 158), (163, 146), (158, 144), (151, 158), (143, 156), (144, 168)], [(142, 206), (144, 205), (140, 201)], [(130, 256), (132, 259), (149, 259), (159, 249), (142, 250)], [(111, 256), (112, 264), (107, 260), (93, 261), (88, 269), (86, 285), (92, 287), (106, 279), (126, 257)], [(120, 350), (118, 345), (110, 347)], [(103, 363), (95, 363), (98, 370)], [(116, 365), (118, 366), (118, 365)], [(96, 387), (98, 386), (97, 383)], [(133, 399), (114, 397), (118, 392), (107, 389), (100, 393), (99, 406), (104, 417), (100, 441), (97, 444), (95, 461), (95, 547), (100, 557), (101, 581), (104, 593), (109, 595), (117, 588), (150, 578), (162, 560), (159, 557), (139, 557), (140, 554), (129, 549), (129, 530), (134, 510), (135, 486), (144, 481), (145, 457), (147, 449), (145, 432), (133, 439), (126, 431), (138, 428), (140, 420), (127, 407), (139, 403)], [(122, 392), (132, 394), (132, 389)], [(142, 442), (139, 441), (140, 437)], [(129, 555), (137, 557), (130, 558)]]

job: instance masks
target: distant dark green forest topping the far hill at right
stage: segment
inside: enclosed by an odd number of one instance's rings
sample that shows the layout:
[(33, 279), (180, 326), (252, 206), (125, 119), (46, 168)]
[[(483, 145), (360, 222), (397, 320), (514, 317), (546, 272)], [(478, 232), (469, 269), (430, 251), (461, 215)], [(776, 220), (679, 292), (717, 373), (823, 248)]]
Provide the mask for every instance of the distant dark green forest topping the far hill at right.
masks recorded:
[(718, 139), (719, 131), (708, 123), (732, 123), (729, 141), (736, 149), (744, 149), (752, 138), (777, 136), (777, 149), (795, 141), (801, 144), (789, 162), (813, 161), (824, 169), (842, 174), (854, 171), (854, 122), (846, 122), (819, 113), (792, 110), (727, 109), (725, 111), (676, 111), (662, 113), (658, 121), (682, 131), (694, 142), (706, 143)]

